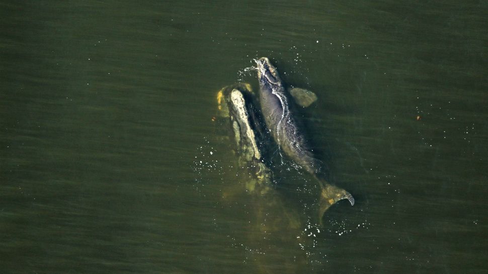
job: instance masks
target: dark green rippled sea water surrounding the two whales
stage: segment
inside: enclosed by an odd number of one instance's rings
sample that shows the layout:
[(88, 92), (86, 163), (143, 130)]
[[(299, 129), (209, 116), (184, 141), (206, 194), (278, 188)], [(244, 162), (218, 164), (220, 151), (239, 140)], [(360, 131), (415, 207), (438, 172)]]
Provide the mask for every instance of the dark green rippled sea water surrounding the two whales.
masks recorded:
[[(487, 272), (487, 11), (3, 1), (0, 272)], [(317, 94), (298, 116), (357, 203), (331, 208), (307, 251), (283, 241), (260, 260), (259, 204), (222, 202), (242, 182), (211, 117), (221, 87), (257, 87), (239, 72), (262, 56)], [(283, 185), (309, 181), (290, 174)]]

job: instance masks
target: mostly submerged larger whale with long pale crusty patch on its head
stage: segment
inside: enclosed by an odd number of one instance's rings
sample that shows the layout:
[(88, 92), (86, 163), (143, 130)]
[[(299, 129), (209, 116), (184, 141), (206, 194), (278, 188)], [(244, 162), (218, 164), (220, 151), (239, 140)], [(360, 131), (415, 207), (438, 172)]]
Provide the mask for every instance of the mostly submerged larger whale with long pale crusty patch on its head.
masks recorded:
[[(229, 192), (234, 193), (234, 198), (246, 201), (249, 229), (238, 233), (245, 236), (243, 244), (247, 248), (260, 251), (248, 254), (249, 261), (257, 268), (255, 272), (297, 273), (308, 266), (302, 246), (309, 245), (310, 238), (304, 237), (302, 214), (276, 188), (273, 171), (263, 161), (268, 155), (270, 136), (263, 128), (255, 99), (247, 83), (232, 84), (217, 93), (218, 113), (222, 117), (218, 121), (234, 141), (231, 150), (237, 156), (240, 170), (235, 180), (241, 183), (225, 191), (223, 202), (230, 198)], [(276, 246), (288, 250), (287, 254)]]

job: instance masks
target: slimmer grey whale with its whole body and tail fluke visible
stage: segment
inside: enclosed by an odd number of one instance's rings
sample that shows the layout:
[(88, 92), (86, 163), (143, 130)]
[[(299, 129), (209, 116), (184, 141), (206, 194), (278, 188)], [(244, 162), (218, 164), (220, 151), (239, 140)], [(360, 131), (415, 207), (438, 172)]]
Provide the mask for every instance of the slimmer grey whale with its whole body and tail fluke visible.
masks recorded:
[(285, 94), (283, 83), (276, 68), (266, 57), (256, 60), (256, 64), (261, 111), (273, 139), (280, 146), (280, 150), (313, 175), (322, 188), (319, 209), (320, 220), (323, 212), (339, 200), (348, 199), (351, 205), (354, 205), (354, 198), (349, 192), (319, 179), (319, 164), (308, 149), (306, 141), (293, 118), (289, 108), (289, 99)]

